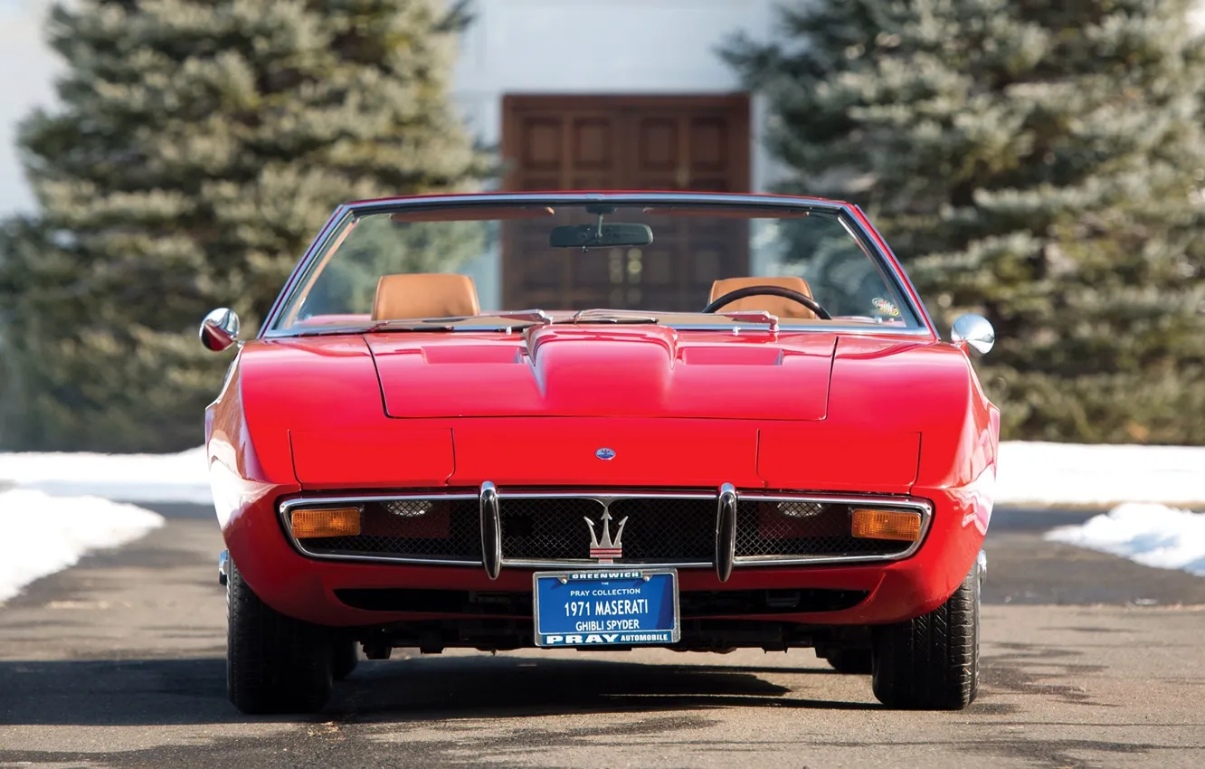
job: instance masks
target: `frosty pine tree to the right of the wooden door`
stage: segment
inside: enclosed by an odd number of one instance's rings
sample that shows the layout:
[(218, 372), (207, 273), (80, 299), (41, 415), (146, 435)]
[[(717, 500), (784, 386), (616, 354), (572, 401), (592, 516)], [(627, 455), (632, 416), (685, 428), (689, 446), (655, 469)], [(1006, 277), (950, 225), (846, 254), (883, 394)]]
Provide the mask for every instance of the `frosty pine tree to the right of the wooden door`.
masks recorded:
[(1189, 0), (813, 0), (722, 52), (786, 190), (851, 199), (1010, 438), (1205, 442), (1205, 46)]

